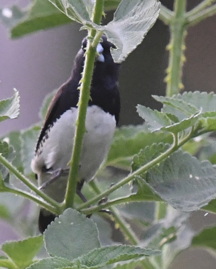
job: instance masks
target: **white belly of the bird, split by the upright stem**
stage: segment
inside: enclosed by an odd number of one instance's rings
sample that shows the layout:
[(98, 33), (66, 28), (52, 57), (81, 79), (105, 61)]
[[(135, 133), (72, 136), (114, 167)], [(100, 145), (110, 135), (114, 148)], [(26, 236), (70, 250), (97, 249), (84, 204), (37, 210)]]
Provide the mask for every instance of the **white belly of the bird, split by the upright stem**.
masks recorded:
[[(50, 174), (42, 172), (42, 167), (52, 170), (68, 168), (73, 140), (77, 108), (67, 110), (50, 128), (48, 138), (42, 145), (41, 153), (31, 162), (31, 168), (38, 175), (38, 184), (41, 186), (50, 180)], [(80, 180), (91, 180), (99, 166), (106, 158), (114, 135), (115, 117), (104, 112), (98, 106), (89, 106), (86, 114), (87, 132), (84, 134), (80, 158)], [(67, 176), (59, 177), (50, 183), (43, 191), (56, 201), (61, 202), (65, 195)]]

